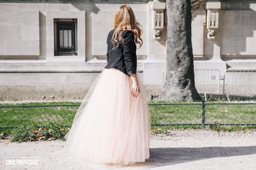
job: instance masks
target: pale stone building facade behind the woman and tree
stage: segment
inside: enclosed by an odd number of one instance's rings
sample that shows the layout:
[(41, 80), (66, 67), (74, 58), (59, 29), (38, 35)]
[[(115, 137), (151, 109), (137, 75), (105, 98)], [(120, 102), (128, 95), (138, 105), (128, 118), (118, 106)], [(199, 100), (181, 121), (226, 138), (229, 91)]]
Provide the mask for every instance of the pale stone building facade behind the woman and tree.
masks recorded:
[[(116, 9), (129, 4), (143, 27), (137, 73), (147, 96), (165, 79), (165, 1), (0, 1), (0, 98), (82, 99), (106, 65)], [(191, 0), (196, 88), (256, 94), (256, 1)], [(107, 90), (107, 89), (106, 89)]]

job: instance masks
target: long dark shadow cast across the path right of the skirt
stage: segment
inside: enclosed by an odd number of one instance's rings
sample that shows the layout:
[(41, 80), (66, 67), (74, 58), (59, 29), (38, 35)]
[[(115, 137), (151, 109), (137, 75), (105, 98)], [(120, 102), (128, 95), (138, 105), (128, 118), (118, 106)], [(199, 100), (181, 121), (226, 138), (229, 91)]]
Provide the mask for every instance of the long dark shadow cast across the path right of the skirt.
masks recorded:
[(202, 148), (150, 148), (150, 158), (141, 166), (150, 168), (168, 166), (201, 159), (256, 154), (256, 146), (202, 147)]

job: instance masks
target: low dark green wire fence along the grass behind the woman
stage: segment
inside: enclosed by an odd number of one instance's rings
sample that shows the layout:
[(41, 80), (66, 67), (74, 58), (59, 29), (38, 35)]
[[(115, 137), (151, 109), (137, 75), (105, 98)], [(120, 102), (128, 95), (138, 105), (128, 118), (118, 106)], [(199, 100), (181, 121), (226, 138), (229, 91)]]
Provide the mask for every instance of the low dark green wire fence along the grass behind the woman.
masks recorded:
[[(0, 128), (70, 127), (81, 102), (1, 102)], [(208, 98), (207, 101), (148, 101), (152, 126), (256, 126), (256, 99)]]

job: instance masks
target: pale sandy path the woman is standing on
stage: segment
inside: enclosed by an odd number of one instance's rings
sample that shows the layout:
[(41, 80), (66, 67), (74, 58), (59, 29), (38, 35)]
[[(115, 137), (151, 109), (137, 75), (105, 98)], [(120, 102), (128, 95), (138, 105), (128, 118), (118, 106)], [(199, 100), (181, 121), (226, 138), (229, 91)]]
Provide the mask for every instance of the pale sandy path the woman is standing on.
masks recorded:
[(0, 169), (256, 169), (256, 132), (174, 131), (154, 136), (150, 159), (120, 167), (80, 163), (70, 157), (62, 141), (10, 143), (0, 141), (0, 157), (39, 158), (39, 167)]

